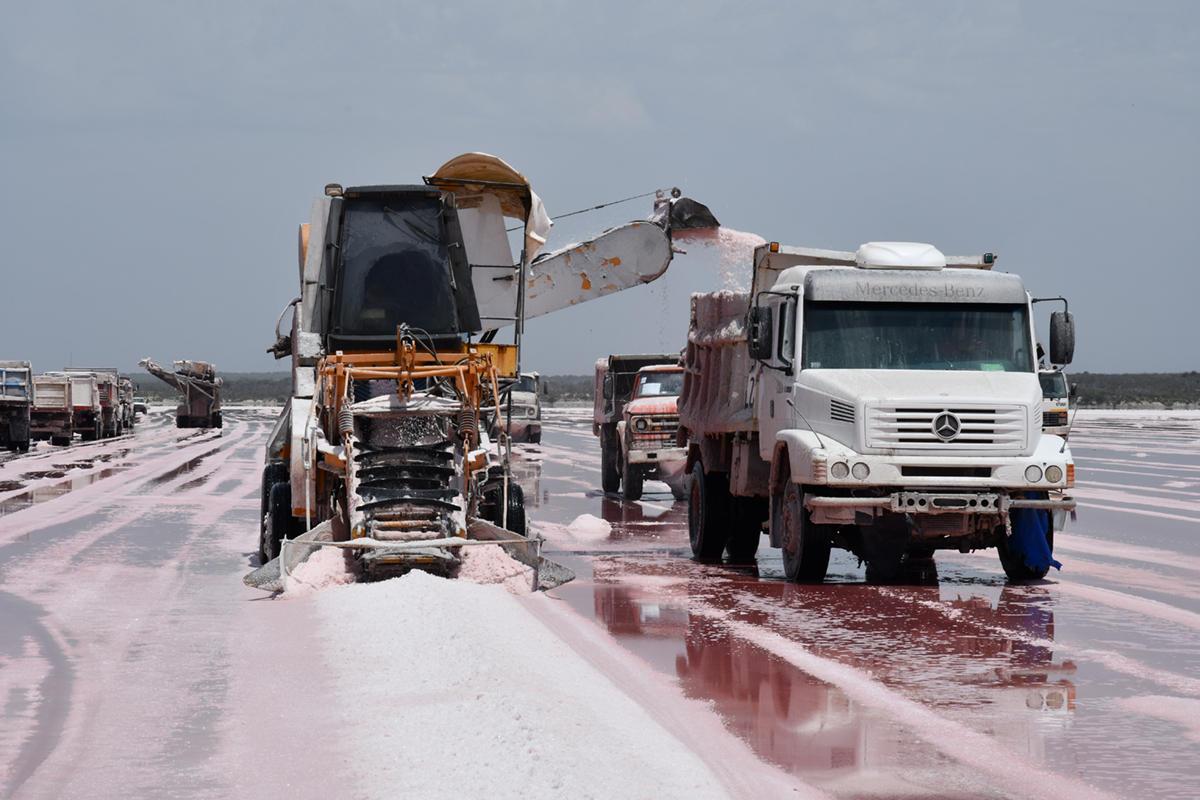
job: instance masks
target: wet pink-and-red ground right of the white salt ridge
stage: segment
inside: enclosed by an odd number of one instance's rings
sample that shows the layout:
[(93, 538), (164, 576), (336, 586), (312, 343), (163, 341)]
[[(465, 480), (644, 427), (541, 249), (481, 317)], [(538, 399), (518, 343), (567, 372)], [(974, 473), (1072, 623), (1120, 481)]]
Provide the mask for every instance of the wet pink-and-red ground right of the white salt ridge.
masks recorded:
[[(1062, 572), (994, 551), (872, 585), (690, 559), (686, 505), (604, 497), (584, 413), (526, 447), (526, 497), (580, 572), (552, 594), (706, 700), (758, 756), (838, 796), (1200, 796), (1200, 419), (1082, 415)], [(581, 515), (600, 517), (602, 525)], [(766, 545), (766, 537), (763, 537)]]

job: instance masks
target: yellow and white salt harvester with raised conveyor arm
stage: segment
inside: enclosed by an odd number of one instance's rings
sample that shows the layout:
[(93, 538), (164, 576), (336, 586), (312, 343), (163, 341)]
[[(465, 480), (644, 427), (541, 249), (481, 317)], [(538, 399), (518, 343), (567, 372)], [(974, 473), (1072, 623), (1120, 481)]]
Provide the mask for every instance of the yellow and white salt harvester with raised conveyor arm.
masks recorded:
[[(508, 219), (523, 231), (515, 259)], [(569, 579), (527, 537), (511, 477), (502, 401), (523, 323), (653, 281), (671, 246), (668, 224), (640, 222), (541, 254), (551, 224), (524, 176), (484, 154), (425, 185), (325, 187), (300, 229), (290, 335), (284, 309), (270, 348), (290, 356), (293, 386), (268, 441), (264, 567), (247, 584), (283, 588), (325, 546), (349, 548), (367, 579), (452, 575), (461, 548), (485, 541), (506, 542), (542, 585)]]

